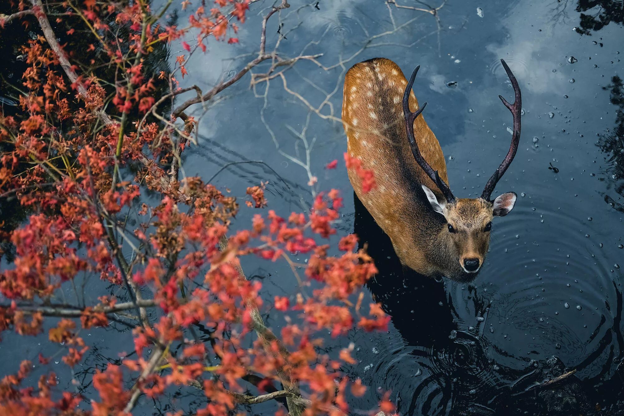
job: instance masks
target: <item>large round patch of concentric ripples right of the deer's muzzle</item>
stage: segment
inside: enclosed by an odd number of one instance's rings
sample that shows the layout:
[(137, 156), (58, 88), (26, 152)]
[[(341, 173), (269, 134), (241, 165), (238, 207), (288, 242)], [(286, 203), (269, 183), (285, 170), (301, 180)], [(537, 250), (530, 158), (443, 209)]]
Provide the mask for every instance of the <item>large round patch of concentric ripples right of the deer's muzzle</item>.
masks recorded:
[[(619, 294), (612, 262), (591, 238), (593, 223), (562, 210), (522, 205), (513, 215), (514, 220), (495, 224), (487, 265), (477, 280), (477, 297), (491, 300), (484, 336), (494, 346), (495, 360), (509, 367), (516, 361), (517, 367), (527, 357), (557, 355), (568, 367), (580, 365), (582, 377), (597, 375), (605, 370), (600, 360), (587, 366), (583, 361), (606, 354), (603, 339), (615, 339), (608, 334), (618, 322), (610, 302)], [(540, 227), (542, 219), (547, 227)], [(459, 287), (456, 294), (470, 296)], [(458, 312), (467, 324), (475, 319), (470, 311)]]

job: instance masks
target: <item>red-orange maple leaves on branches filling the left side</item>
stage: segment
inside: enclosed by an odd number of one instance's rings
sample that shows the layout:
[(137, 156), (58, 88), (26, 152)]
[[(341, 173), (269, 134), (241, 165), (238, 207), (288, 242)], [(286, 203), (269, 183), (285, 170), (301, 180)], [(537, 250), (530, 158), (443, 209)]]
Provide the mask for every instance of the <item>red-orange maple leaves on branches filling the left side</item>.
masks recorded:
[[(190, 6), (189, 1), (182, 4)], [(376, 268), (358, 249), (355, 235), (335, 244), (334, 225), (343, 206), (339, 192), (319, 194), (309, 212), (293, 212), (288, 218), (274, 210), (256, 214), (250, 229), (238, 230), (227, 242), (238, 210), (235, 199), (198, 178), (182, 183), (171, 179), (165, 169), (172, 159), (175, 128), (142, 118), (160, 98), (154, 96), (156, 79), (144, 67), (154, 45), (193, 33), (196, 41), (182, 41), (183, 49), (189, 54), (197, 47), (205, 51), (208, 37), (224, 40), (236, 33), (230, 17), (244, 22), (249, 4), (217, 0), (207, 10), (202, 2), (190, 14), (187, 27), (152, 21), (155, 11), (149, 2), (85, 0), (81, 8), (59, 15), (59, 24), (65, 15), (87, 22), (97, 47), (117, 70), (115, 82), (79, 76), (67, 83), (56, 53), (43, 37), (31, 40), (23, 51), (28, 67), (22, 77), (27, 91), (20, 99), (22, 116), (0, 114), (0, 141), (7, 144), (0, 156), (0, 193), (10, 192), (32, 214), (10, 233), (16, 255), (11, 267), (0, 271), (0, 292), (12, 303), (0, 307), (0, 332), (40, 334), (43, 314), (22, 310), (18, 302), (48, 304), (60, 290), (72, 287), (72, 280), (87, 274), (124, 288), (133, 285), (133, 292), (149, 293), (155, 301), (155, 314), (137, 319), (132, 331), (134, 359), (125, 359), (122, 366), (110, 364), (93, 376), (99, 400), (91, 402), (92, 415), (122, 414), (133, 394), (129, 380), (136, 380), (137, 389), (150, 398), (161, 397), (167, 387), (198, 385), (210, 399), (198, 410), (200, 415), (234, 411), (236, 401), (228, 390), (242, 391), (249, 375), (261, 379), (256, 387), (263, 392), (275, 389), (288, 374), (308, 394), (309, 414), (326, 412), (330, 406), (348, 412), (346, 395), (364, 393), (360, 380), (351, 384), (340, 372), (344, 363), (356, 364), (352, 347), (333, 359), (318, 353), (323, 343), (319, 334), (339, 336), (357, 327), (383, 330), (389, 320), (376, 304), (362, 315), (361, 297), (353, 307), (352, 300)], [(19, 7), (25, 6), (19, 2)], [(114, 32), (115, 25), (128, 30)], [(66, 32), (76, 34), (74, 28)], [(238, 39), (229, 37), (228, 42)], [(184, 76), (185, 57), (178, 58)], [(169, 81), (175, 90), (175, 78)], [(109, 100), (112, 105), (107, 106)], [(102, 127), (102, 111), (117, 111), (122, 122)], [(124, 124), (132, 114), (139, 119)], [(187, 126), (192, 124), (188, 117)], [(153, 159), (145, 162), (146, 154)], [(361, 177), (364, 192), (373, 189), (373, 172), (358, 159), (345, 155), (345, 161)], [(334, 169), (337, 163), (326, 167)], [(129, 164), (137, 168), (134, 178), (124, 169)], [(119, 174), (122, 169), (124, 176)], [(158, 194), (158, 202), (140, 205), (148, 190)], [(263, 184), (249, 187), (251, 201), (246, 205), (266, 207), (264, 191)], [(126, 222), (125, 215), (135, 215), (136, 224)], [(132, 250), (130, 264), (124, 250)], [(308, 260), (304, 279), (313, 287), (312, 294), (275, 297), (265, 305), (261, 282), (245, 279), (240, 258), (284, 260), (295, 271), (292, 255)], [(48, 325), (49, 340), (64, 345), (62, 361), (69, 367), (82, 362), (89, 349), (79, 331), (105, 327), (114, 319), (105, 311), (119, 302), (111, 297), (99, 301), (73, 307), (71, 312), (80, 313)], [(288, 322), (300, 317), (301, 324), (286, 325), (278, 337), (258, 322), (270, 307)], [(188, 340), (189, 328), (196, 324), (210, 333), (209, 343)], [(150, 362), (149, 350), (162, 352), (156, 364)], [(216, 357), (218, 365), (207, 365), (207, 357)], [(39, 361), (46, 364), (49, 358), (40, 355)], [(77, 409), (79, 395), (52, 394), (57, 389), (54, 375), (43, 376), (36, 388), (22, 387), (28, 366), (22, 363), (17, 375), (0, 382), (0, 414), (83, 414)], [(205, 377), (206, 372), (215, 377)], [(338, 386), (335, 380), (340, 380)]]

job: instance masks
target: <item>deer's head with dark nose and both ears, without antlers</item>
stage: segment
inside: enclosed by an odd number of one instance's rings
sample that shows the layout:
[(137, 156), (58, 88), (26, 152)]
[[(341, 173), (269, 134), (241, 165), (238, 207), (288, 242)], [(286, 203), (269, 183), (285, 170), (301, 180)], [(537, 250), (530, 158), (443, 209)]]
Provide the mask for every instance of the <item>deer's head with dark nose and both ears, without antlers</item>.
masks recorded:
[(444, 270), (444, 274), (454, 280), (473, 280), (490, 245), (492, 218), (509, 214), (514, 208), (516, 194), (507, 192), (492, 202), (476, 198), (456, 199), (446, 204), (439, 202), (428, 187), (423, 185), (422, 189), (431, 207), (447, 221), (446, 229), (439, 235), (447, 245), (445, 251), (452, 257), (451, 270)]

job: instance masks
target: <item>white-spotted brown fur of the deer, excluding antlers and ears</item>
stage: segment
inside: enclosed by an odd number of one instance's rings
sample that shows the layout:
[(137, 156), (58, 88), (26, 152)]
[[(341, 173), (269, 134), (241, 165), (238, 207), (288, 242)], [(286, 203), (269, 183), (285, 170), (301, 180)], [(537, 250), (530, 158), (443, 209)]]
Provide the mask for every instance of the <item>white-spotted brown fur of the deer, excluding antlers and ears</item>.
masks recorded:
[[(347, 72), (343, 91), (343, 126), (347, 151), (362, 166), (374, 171), (376, 188), (364, 194), (361, 179), (349, 169), (349, 180), (357, 196), (389, 235), (402, 264), (429, 276), (446, 275), (456, 280), (472, 280), (460, 261), (478, 258), (482, 264), (489, 247), (492, 203), (483, 199), (457, 199), (447, 204), (445, 215), (457, 232), (447, 229), (447, 221), (427, 201), (421, 184), (444, 202), (439, 189), (417, 165), (405, 131), (402, 97), (407, 79), (389, 59), (360, 62)], [(418, 102), (410, 93), (409, 106)], [(414, 122), (414, 137), (422, 156), (448, 183), (444, 154), (424, 117)]]

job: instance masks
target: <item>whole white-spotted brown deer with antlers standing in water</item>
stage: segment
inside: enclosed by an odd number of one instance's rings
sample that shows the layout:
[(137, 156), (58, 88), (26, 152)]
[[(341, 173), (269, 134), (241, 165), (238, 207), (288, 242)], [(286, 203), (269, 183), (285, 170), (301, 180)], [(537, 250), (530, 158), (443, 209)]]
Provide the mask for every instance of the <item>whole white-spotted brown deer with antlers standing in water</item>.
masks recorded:
[(420, 66), (409, 81), (385, 58), (359, 62), (345, 75), (342, 122), (347, 152), (373, 171), (376, 186), (363, 192), (354, 167), (348, 169), (349, 181), (390, 237), (402, 266), (418, 274), (472, 282), (489, 250), (492, 219), (504, 217), (515, 206), (515, 192), (490, 200), (520, 142), (520, 87), (500, 61), (515, 94), (514, 104), (499, 95), (513, 116), (511, 145), (477, 198), (456, 198), (449, 188), (442, 148), (421, 115), (427, 102), (419, 106), (412, 91)]

